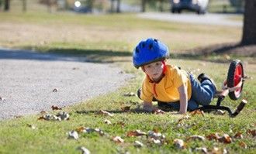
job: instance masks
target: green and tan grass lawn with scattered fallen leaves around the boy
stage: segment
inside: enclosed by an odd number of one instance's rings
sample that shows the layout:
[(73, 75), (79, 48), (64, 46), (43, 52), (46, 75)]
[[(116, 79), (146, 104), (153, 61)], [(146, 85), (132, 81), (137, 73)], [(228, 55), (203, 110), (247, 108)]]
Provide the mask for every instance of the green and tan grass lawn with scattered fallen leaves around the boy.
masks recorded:
[[(171, 49), (168, 63), (189, 70), (195, 76), (205, 72), (221, 87), (230, 63), (227, 56), (182, 57), (182, 54), (203, 46), (237, 43), (241, 37), (240, 28), (156, 22), (139, 19), (135, 14), (9, 12), (0, 13), (0, 19), (0, 46), (88, 56), (94, 63), (109, 62), (135, 75), (118, 91), (62, 108), (70, 115), (67, 121), (39, 120), (46, 115), (44, 112), (1, 121), (0, 153), (79, 153), (81, 146), (92, 153), (201, 153), (199, 148), (213, 153), (255, 153), (256, 65), (251, 63), (251, 57), (230, 55), (231, 60), (237, 57), (244, 60), (247, 75), (242, 97), (238, 101), (230, 98), (223, 101), (232, 110), (241, 99), (248, 101), (236, 118), (230, 118), (227, 113), (188, 113), (187, 116), (175, 115), (175, 112), (144, 113), (138, 109), (141, 101), (137, 97), (123, 95), (136, 93), (144, 79), (144, 74), (133, 68), (131, 54), (137, 42), (147, 37), (168, 44)], [(220, 59), (224, 63), (218, 63)], [(49, 108), (47, 113), (57, 115), (60, 111)], [(79, 138), (68, 139), (67, 132), (74, 130), (79, 132)], [(137, 136), (136, 130), (144, 133)], [(158, 136), (153, 139), (152, 134), (156, 132)], [(192, 135), (205, 139), (193, 139)], [(113, 141), (115, 136), (124, 142)], [(185, 146), (179, 149), (175, 139), (184, 141)], [(135, 141), (143, 146), (137, 147)]]

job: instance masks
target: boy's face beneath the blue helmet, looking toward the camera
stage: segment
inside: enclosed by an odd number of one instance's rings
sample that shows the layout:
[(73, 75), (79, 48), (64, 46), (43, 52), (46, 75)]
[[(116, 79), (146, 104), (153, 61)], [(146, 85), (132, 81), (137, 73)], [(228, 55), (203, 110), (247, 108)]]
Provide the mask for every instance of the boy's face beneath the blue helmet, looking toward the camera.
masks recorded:
[(159, 80), (163, 73), (164, 64), (161, 61), (149, 63), (144, 66), (145, 73), (153, 80)]

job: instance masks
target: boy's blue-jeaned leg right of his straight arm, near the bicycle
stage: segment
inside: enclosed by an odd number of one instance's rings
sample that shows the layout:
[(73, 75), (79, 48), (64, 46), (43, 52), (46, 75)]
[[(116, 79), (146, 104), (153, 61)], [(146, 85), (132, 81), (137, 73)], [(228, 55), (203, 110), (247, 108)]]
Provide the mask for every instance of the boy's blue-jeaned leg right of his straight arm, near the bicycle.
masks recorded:
[(216, 86), (211, 80), (202, 80), (202, 83), (199, 83), (195, 78), (190, 74), (190, 81), (192, 86), (192, 100), (197, 104), (207, 105), (213, 101), (213, 96), (216, 92)]

